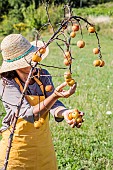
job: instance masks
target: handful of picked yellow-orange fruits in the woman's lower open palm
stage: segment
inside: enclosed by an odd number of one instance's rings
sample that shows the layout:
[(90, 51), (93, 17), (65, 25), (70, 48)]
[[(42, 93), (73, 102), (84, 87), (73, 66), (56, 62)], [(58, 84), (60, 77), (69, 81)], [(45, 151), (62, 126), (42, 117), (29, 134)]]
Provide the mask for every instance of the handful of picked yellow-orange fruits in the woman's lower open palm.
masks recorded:
[(74, 109), (72, 112), (70, 112), (68, 115), (68, 119), (73, 120), (73, 122), (76, 122), (77, 124), (83, 122), (82, 116), (80, 115), (78, 109)]

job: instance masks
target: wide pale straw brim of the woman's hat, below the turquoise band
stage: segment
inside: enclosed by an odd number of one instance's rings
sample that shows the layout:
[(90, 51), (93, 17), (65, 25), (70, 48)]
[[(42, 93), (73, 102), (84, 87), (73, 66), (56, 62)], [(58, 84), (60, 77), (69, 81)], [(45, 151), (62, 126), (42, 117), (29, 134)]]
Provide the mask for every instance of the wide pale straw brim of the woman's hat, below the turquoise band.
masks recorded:
[[(33, 41), (33, 42), (31, 42), (31, 45), (33, 45), (34, 48), (30, 51), (29, 54), (27, 54), (23, 58), (21, 58), (19, 60), (16, 60), (16, 61), (13, 61), (13, 62), (3, 61), (2, 65), (0, 67), (0, 73), (8, 72), (8, 71), (13, 71), (13, 70), (17, 70), (17, 69), (20, 69), (20, 68), (25, 68), (25, 67), (30, 66), (32, 55), (40, 47), (44, 46), (44, 42), (42, 42), (42, 41), (37, 41), (37, 42)], [(46, 47), (46, 52), (44, 54), (42, 54), (42, 56), (41, 56), (42, 60), (47, 57), (48, 53), (49, 53), (49, 48)], [(32, 62), (32, 65), (33, 64), (34, 64), (34, 62)]]

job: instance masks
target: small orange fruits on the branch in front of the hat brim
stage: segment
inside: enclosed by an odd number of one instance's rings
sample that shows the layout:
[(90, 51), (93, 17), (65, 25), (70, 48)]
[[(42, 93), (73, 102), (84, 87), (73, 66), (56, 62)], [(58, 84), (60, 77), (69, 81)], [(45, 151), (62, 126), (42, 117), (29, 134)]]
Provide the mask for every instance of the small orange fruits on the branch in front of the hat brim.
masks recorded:
[(41, 55), (46, 52), (45, 47), (41, 47), (36, 53), (33, 54), (32, 56), (32, 61), (34, 62), (40, 62), (42, 60)]

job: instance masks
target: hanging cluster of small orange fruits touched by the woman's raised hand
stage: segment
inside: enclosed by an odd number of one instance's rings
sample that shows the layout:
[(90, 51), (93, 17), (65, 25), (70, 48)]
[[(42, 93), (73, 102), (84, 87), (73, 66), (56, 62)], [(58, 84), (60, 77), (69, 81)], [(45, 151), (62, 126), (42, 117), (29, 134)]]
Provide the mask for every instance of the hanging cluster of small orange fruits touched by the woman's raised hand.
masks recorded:
[(69, 86), (73, 86), (75, 84), (75, 80), (71, 77), (71, 73), (70, 71), (66, 71), (64, 73), (64, 78), (65, 78), (65, 82), (69, 85)]

